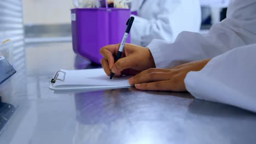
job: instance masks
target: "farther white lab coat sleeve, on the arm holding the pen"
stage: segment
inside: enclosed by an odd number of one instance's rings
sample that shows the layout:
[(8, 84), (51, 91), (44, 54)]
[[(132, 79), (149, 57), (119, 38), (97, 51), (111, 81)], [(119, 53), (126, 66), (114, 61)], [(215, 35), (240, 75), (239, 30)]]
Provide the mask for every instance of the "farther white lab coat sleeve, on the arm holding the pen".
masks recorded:
[(186, 62), (216, 57), (239, 46), (256, 43), (256, 1), (233, 0), (227, 18), (216, 23), (210, 32), (182, 32), (174, 43), (153, 40), (148, 45), (156, 67), (170, 68)]

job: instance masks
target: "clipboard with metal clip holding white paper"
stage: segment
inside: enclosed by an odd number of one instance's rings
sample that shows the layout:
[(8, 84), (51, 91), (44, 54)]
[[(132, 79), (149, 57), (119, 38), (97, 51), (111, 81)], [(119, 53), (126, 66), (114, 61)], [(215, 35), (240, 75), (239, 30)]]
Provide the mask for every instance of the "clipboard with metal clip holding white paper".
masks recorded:
[(84, 70), (58, 70), (50, 80), (49, 88), (58, 90), (97, 90), (132, 87), (128, 79), (131, 76), (122, 76), (113, 80), (109, 79), (101, 69)]

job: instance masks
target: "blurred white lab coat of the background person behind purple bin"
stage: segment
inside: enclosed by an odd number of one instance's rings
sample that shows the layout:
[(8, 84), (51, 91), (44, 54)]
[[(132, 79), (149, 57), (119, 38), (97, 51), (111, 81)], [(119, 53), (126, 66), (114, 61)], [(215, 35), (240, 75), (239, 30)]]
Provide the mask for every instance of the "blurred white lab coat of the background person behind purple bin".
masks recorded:
[(131, 28), (132, 43), (147, 46), (153, 39), (173, 42), (182, 31), (199, 32), (199, 0), (132, 0), (137, 11)]

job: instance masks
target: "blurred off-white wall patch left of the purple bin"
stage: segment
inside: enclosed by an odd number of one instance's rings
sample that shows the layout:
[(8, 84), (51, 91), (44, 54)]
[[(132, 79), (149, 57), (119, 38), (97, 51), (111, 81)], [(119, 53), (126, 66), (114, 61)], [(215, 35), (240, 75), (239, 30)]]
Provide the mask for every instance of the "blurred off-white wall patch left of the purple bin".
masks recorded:
[(25, 25), (70, 23), (71, 0), (23, 0)]

